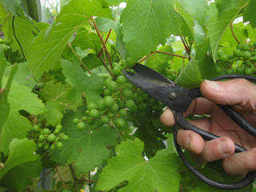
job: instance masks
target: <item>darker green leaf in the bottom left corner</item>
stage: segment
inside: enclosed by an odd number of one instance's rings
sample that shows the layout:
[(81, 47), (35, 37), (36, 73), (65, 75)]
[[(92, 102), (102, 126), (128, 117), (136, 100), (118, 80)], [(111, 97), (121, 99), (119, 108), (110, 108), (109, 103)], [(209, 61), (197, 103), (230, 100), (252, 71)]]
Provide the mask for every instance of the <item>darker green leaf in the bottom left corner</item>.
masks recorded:
[(6, 186), (11, 191), (22, 192), (27, 185), (31, 184), (31, 178), (38, 178), (41, 171), (39, 159), (22, 163), (5, 174), (5, 177), (0, 180), (0, 186)]

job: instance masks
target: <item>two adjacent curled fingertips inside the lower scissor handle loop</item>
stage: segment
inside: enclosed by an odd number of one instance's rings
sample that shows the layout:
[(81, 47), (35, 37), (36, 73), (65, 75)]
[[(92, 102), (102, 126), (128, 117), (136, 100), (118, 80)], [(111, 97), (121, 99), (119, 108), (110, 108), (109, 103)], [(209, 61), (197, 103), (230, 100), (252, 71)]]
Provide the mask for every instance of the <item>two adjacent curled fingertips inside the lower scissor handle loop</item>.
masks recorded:
[(196, 162), (213, 162), (234, 154), (234, 142), (230, 138), (216, 138), (204, 142), (199, 134), (191, 130), (178, 130), (178, 145), (192, 152)]

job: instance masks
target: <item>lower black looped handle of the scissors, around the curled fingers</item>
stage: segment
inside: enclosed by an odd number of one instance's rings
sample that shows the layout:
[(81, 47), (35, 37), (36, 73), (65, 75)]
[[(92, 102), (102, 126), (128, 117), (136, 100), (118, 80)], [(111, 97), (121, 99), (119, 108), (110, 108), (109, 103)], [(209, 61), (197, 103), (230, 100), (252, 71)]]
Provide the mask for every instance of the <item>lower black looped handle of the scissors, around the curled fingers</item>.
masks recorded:
[[(202, 138), (204, 138), (206, 141), (212, 140), (214, 138), (219, 138), (219, 137), (215, 134), (210, 134), (205, 130), (201, 130), (196, 126), (191, 125), (189, 122), (186, 122), (185, 118), (183, 118), (182, 113), (179, 113), (176, 111), (173, 111), (173, 112), (174, 112), (175, 122), (177, 123), (176, 125), (174, 125), (174, 145), (176, 147), (179, 157), (182, 158), (182, 162), (184, 162), (187, 168), (195, 176), (201, 179), (202, 182), (206, 182), (208, 185), (217, 187), (218, 189), (222, 189), (222, 190), (238, 190), (254, 182), (254, 179), (256, 178), (256, 170), (250, 171), (246, 175), (246, 178), (243, 178), (239, 182), (216, 182), (210, 178), (207, 178), (205, 175), (201, 174), (198, 170), (196, 170), (194, 166), (192, 166), (190, 162), (186, 159), (185, 155), (182, 153), (180, 146), (178, 146), (178, 142), (177, 142), (178, 126), (181, 126), (181, 128), (184, 130), (193, 130), (194, 132), (200, 134)], [(245, 148), (243, 148), (242, 146), (239, 146), (238, 144), (235, 144), (235, 149), (236, 149), (235, 151), (238, 153), (246, 151)]]

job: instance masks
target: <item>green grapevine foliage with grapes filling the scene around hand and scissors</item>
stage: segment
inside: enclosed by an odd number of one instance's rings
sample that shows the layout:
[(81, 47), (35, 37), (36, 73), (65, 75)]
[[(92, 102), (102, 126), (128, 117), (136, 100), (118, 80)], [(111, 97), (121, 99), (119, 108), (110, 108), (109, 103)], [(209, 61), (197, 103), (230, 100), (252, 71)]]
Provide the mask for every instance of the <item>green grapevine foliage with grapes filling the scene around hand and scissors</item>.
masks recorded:
[[(186, 170), (160, 122), (164, 106), (122, 70), (140, 62), (189, 89), (222, 74), (255, 76), (255, 6), (65, 0), (49, 25), (0, 0), (0, 190), (40, 190), (49, 168), (51, 191), (219, 191)], [(240, 179), (220, 162), (190, 162), (210, 178)]]

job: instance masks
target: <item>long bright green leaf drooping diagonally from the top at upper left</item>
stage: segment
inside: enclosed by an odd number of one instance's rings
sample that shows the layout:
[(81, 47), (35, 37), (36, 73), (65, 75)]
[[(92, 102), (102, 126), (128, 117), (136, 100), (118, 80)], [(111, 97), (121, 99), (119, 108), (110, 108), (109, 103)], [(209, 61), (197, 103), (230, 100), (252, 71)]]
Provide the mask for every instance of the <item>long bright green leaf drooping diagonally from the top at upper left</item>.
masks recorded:
[(48, 41), (45, 33), (34, 39), (30, 46), (28, 61), (34, 78), (40, 78), (44, 72), (54, 69), (62, 56), (69, 39), (85, 22), (93, 17), (112, 18), (111, 10), (103, 0), (71, 0), (55, 20), (55, 25)]

